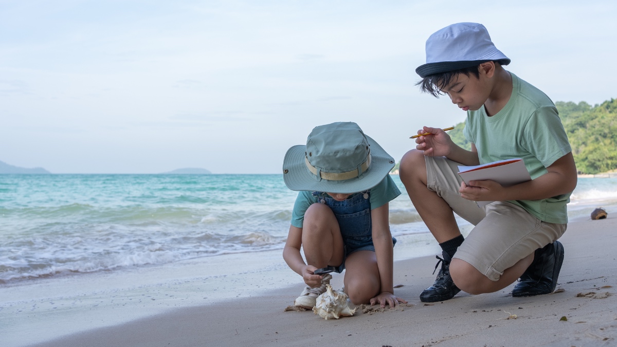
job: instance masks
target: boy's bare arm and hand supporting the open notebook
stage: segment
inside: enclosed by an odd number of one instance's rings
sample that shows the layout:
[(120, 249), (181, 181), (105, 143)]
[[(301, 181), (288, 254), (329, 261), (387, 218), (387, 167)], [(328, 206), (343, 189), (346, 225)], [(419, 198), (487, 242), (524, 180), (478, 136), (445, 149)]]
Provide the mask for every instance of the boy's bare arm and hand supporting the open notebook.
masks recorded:
[(539, 200), (567, 194), (576, 188), (576, 165), (571, 152), (546, 169), (546, 174), (534, 180), (509, 187), (491, 180), (471, 181), (473, 186), (463, 182), (460, 193), (463, 198), (474, 201)]

